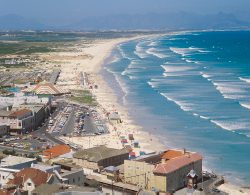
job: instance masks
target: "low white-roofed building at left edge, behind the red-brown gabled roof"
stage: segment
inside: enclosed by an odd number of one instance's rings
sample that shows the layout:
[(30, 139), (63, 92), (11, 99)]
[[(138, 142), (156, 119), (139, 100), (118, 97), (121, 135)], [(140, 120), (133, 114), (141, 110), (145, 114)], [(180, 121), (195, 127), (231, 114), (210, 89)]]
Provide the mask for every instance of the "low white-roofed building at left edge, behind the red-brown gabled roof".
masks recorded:
[(23, 169), (31, 167), (31, 164), (37, 163), (36, 159), (25, 158), (21, 156), (7, 156), (1, 160), (0, 167), (9, 169)]

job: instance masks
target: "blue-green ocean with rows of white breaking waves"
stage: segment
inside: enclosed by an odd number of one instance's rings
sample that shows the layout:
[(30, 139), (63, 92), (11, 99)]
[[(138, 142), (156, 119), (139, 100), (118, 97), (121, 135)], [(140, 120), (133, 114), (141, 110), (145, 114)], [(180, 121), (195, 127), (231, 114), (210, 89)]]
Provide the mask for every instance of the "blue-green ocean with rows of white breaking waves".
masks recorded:
[(120, 44), (102, 74), (136, 123), (204, 167), (250, 184), (250, 31), (180, 32)]

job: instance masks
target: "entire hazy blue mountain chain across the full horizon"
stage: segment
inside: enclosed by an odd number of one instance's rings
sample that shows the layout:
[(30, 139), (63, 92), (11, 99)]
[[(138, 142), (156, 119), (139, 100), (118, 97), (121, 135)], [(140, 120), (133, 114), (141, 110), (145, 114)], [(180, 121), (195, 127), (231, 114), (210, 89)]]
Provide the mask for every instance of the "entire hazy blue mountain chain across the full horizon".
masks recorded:
[(110, 15), (84, 18), (65, 26), (48, 26), (18, 15), (0, 16), (0, 30), (178, 30), (250, 27), (233, 14), (200, 15), (188, 12), (144, 15)]

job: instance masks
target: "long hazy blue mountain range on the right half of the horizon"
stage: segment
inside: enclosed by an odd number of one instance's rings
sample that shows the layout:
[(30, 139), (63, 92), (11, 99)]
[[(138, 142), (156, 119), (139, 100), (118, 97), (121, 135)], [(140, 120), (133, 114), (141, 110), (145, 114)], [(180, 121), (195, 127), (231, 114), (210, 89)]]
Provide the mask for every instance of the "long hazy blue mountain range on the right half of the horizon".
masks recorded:
[(145, 15), (111, 15), (105, 17), (90, 17), (67, 26), (70, 29), (88, 30), (133, 30), (133, 29), (208, 29), (237, 28), (250, 26), (249, 22), (237, 19), (233, 14), (218, 13), (215, 15), (199, 15), (187, 12), (172, 14)]

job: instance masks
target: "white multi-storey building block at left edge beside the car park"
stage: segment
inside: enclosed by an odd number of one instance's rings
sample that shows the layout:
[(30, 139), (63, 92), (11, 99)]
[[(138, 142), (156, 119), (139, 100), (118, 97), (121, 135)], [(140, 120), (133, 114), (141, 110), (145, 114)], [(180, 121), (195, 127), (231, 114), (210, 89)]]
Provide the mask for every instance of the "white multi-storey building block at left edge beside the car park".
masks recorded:
[(0, 105), (5, 105), (0, 110), (0, 124), (10, 126), (11, 133), (21, 134), (38, 128), (51, 112), (50, 98), (23, 93), (0, 97)]

